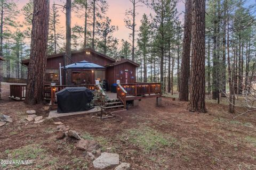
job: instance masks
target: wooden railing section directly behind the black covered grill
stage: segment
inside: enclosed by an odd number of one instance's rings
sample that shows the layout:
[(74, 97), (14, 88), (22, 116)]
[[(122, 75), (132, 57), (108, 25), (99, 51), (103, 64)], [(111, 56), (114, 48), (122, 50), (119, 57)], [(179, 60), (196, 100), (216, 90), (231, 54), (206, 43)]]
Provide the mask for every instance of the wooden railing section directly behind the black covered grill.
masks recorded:
[(50, 86), (51, 88), (51, 105), (56, 103), (56, 92), (66, 88), (66, 87), (86, 87), (90, 90), (95, 90), (97, 86), (95, 84), (83, 84), (83, 85), (66, 85), (66, 86)]

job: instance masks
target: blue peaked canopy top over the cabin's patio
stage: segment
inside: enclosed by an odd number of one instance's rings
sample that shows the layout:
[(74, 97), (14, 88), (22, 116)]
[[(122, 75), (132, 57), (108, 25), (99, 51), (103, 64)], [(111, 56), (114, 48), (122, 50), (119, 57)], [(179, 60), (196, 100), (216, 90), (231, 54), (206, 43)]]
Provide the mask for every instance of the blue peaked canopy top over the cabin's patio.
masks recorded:
[[(64, 67), (61, 68), (63, 69)], [(105, 67), (84, 60), (78, 63), (66, 65), (65, 69), (105, 69)]]

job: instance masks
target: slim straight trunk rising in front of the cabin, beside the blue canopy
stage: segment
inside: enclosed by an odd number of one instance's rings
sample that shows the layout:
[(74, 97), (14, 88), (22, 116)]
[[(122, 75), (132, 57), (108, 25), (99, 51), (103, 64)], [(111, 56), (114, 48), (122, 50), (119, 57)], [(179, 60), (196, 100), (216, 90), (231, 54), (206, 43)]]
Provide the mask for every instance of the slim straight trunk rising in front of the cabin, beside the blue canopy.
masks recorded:
[[(66, 57), (65, 64), (71, 64), (71, 0), (66, 1)], [(66, 82), (71, 84), (71, 70), (66, 71)]]

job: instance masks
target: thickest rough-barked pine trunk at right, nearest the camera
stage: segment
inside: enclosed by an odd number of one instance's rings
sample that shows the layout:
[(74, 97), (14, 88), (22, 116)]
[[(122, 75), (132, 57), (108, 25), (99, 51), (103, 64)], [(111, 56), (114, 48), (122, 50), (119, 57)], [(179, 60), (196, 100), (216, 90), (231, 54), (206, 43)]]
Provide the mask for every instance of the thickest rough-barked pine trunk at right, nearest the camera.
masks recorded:
[(191, 93), (189, 111), (206, 113), (205, 108), (205, 0), (193, 1)]

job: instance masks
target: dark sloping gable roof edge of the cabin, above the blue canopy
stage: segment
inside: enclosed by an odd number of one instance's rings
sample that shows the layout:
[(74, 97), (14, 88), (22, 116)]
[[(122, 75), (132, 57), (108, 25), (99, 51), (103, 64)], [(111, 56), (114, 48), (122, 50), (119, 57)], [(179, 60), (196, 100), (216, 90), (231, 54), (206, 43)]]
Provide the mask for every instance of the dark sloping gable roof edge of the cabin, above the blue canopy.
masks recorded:
[[(106, 56), (105, 54), (102, 54), (102, 53), (99, 53), (91, 48), (85, 48), (85, 49), (81, 49), (81, 50), (73, 50), (71, 51), (71, 54), (76, 54), (76, 53), (84, 53), (84, 52), (91, 52), (91, 53), (94, 53), (94, 54), (98, 54), (99, 56), (101, 57), (104, 57), (104, 58), (107, 58), (108, 60), (110, 61), (113, 61), (115, 62), (116, 60), (109, 57), (109, 56)], [(55, 58), (55, 57), (61, 57), (63, 56), (65, 53), (58, 53), (58, 54), (52, 54), (52, 55), (48, 55), (47, 56), (47, 59), (49, 58)], [(28, 64), (29, 63), (29, 58), (28, 59), (25, 59), (25, 60), (22, 60), (21, 61), (22, 64)]]

